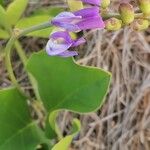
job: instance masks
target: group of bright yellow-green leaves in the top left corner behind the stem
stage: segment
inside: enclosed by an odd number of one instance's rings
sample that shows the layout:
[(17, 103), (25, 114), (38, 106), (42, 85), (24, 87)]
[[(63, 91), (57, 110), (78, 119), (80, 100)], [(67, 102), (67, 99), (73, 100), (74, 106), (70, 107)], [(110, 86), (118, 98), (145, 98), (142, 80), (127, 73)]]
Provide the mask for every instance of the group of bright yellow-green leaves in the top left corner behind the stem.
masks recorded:
[[(0, 2), (2, 4), (2, 1)], [(8, 32), (10, 32), (13, 26), (19, 29), (25, 29), (43, 22), (47, 22), (48, 20), (50, 21), (53, 16), (63, 11), (62, 8), (41, 8), (34, 11), (31, 16), (21, 19), (27, 4), (28, 0), (14, 0), (8, 5), (6, 11), (2, 5), (0, 5), (0, 26), (5, 29), (4, 31), (0, 28), (1, 39), (8, 39), (10, 37)], [(54, 27), (50, 27), (49, 29), (32, 32), (27, 36), (48, 38), (53, 29)]]

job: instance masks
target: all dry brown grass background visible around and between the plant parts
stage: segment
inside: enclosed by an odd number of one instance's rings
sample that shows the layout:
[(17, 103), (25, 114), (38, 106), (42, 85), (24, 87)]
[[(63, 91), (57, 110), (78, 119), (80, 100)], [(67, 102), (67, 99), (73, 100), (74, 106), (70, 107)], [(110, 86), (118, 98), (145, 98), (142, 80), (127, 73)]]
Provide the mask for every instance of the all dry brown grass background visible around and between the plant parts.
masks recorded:
[[(5, 5), (9, 2), (6, 0)], [(119, 2), (113, 0), (110, 11), (116, 12)], [(23, 17), (55, 7), (57, 11), (53, 13), (57, 14), (67, 9), (67, 4), (65, 0), (30, 0)], [(106, 101), (97, 112), (86, 115), (60, 113), (58, 124), (64, 135), (70, 132), (73, 117), (78, 117), (82, 123), (82, 130), (70, 150), (150, 150), (150, 29), (135, 32), (125, 27), (116, 32), (86, 31), (83, 35), (87, 43), (76, 48), (79, 52), (75, 58), (77, 63), (110, 71), (112, 81)], [(21, 38), (21, 42), (30, 56), (42, 50), (47, 39), (28, 37)], [(6, 41), (0, 40), (0, 88), (10, 84), (2, 53)], [(12, 59), (18, 81), (32, 93), (16, 53)]]

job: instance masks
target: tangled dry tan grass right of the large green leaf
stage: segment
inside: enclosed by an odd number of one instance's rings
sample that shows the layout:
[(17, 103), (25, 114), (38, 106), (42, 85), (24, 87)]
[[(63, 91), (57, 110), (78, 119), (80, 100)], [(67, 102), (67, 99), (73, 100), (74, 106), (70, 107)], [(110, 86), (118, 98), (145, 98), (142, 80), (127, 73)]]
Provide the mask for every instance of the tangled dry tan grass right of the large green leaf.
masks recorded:
[[(84, 35), (89, 40), (78, 63), (110, 71), (112, 82), (103, 107), (80, 117), (82, 131), (72, 149), (150, 150), (150, 29)], [(70, 113), (63, 115), (62, 123), (69, 122)]]

